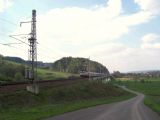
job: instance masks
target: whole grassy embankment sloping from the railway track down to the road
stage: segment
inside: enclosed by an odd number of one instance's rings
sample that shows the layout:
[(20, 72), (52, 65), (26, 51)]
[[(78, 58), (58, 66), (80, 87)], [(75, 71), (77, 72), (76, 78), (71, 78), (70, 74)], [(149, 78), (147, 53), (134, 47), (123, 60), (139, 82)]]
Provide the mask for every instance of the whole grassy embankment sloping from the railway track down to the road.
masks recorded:
[(0, 95), (0, 119), (40, 120), (90, 106), (133, 97), (122, 89), (101, 82), (77, 83), (58, 88), (46, 87), (39, 95), (26, 91)]

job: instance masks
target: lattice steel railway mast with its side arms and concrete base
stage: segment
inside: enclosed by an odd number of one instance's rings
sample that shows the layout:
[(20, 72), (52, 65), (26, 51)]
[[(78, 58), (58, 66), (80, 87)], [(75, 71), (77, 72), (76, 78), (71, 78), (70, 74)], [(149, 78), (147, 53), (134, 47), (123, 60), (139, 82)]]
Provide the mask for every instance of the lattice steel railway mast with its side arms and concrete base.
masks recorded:
[[(38, 94), (39, 87), (36, 84), (36, 80), (37, 80), (36, 10), (32, 10), (31, 21), (20, 22), (20, 26), (22, 26), (23, 23), (31, 23), (31, 33), (10, 35), (10, 37), (29, 46), (29, 50), (28, 50), (28, 63), (29, 63), (29, 65), (25, 71), (25, 78), (28, 79), (32, 83), (32, 85), (27, 86), (27, 91), (32, 92), (34, 94)], [(28, 39), (28, 43), (15, 37), (15, 36), (21, 36), (21, 35), (30, 35), (30, 38)], [(17, 44), (17, 43), (10, 43), (10, 44)], [(10, 45), (10, 44), (5, 44), (5, 45)]]

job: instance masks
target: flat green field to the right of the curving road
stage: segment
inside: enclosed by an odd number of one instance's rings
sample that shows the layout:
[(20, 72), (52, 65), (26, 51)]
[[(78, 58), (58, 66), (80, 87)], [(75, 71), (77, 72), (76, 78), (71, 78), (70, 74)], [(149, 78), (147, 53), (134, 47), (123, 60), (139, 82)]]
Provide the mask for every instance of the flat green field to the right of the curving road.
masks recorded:
[(146, 95), (144, 103), (160, 114), (160, 78), (144, 78), (137, 81), (119, 81), (121, 85)]

